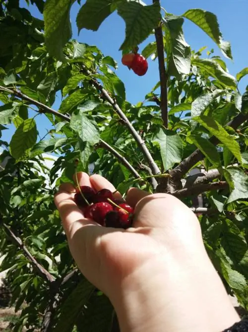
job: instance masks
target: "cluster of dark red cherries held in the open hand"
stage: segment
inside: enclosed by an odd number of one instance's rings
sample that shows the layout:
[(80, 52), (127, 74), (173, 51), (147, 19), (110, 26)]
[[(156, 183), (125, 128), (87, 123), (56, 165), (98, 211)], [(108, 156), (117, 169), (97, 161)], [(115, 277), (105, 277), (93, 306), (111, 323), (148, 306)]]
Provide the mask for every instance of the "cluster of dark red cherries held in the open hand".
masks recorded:
[(126, 229), (132, 224), (133, 208), (115, 200), (109, 189), (96, 192), (91, 187), (80, 186), (80, 190), (76, 189), (74, 200), (83, 210), (85, 218), (102, 226)]

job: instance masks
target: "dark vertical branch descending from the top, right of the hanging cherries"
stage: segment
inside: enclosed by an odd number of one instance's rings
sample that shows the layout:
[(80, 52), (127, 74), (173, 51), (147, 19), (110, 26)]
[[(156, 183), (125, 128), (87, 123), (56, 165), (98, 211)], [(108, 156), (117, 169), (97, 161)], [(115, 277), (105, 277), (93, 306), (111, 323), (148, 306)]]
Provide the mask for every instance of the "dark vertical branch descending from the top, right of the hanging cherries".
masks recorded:
[[(159, 0), (153, 0), (153, 3), (159, 2)], [(162, 26), (159, 25), (155, 29), (155, 39), (157, 44), (158, 53), (158, 66), (159, 66), (159, 77), (160, 77), (160, 108), (161, 116), (164, 126), (168, 127), (168, 97), (167, 97), (167, 83), (168, 75), (165, 69), (165, 55), (164, 55), (164, 39)]]

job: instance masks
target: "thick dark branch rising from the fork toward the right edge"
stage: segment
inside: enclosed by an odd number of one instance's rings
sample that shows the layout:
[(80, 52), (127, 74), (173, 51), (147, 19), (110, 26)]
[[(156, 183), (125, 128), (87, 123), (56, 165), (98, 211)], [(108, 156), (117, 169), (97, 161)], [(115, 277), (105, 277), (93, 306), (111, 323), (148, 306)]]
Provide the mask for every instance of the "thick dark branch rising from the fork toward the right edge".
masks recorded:
[[(227, 123), (227, 126), (230, 126), (234, 129), (237, 129), (242, 123), (248, 119), (248, 114), (239, 113), (235, 118)], [(210, 142), (214, 145), (217, 145), (220, 141), (217, 137), (211, 137)], [(171, 177), (173, 179), (182, 179), (186, 173), (200, 160), (204, 158), (204, 154), (196, 149), (193, 153), (190, 154), (185, 160), (183, 160), (177, 167), (171, 171)]]

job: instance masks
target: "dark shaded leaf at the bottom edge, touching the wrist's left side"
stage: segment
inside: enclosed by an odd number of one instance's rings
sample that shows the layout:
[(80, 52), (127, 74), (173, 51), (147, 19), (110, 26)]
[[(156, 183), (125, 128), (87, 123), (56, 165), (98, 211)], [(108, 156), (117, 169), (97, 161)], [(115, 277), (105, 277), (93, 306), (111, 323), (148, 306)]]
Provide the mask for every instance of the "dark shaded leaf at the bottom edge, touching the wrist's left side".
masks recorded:
[(86, 306), (77, 321), (78, 332), (111, 331), (114, 308), (107, 296), (94, 294)]

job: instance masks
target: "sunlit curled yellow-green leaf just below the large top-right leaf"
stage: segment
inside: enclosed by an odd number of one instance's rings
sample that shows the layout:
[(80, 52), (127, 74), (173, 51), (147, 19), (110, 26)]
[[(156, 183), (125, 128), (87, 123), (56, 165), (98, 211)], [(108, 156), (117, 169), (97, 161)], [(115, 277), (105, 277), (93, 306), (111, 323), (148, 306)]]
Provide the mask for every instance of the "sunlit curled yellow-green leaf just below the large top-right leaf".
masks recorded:
[(225, 86), (236, 90), (236, 80), (235, 77), (225, 72), (221, 66), (214, 60), (210, 59), (191, 59), (192, 65), (205, 70), (210, 76), (216, 78)]

